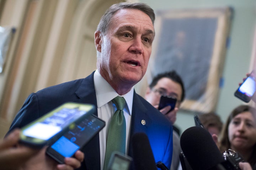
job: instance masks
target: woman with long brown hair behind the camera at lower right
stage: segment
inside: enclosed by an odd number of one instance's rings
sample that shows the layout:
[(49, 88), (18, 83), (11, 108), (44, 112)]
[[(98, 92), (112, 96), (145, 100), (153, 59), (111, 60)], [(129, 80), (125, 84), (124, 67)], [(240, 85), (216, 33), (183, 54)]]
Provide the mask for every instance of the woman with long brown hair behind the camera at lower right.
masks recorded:
[(236, 107), (222, 130), (220, 151), (239, 152), (253, 170), (256, 170), (256, 109), (248, 105)]

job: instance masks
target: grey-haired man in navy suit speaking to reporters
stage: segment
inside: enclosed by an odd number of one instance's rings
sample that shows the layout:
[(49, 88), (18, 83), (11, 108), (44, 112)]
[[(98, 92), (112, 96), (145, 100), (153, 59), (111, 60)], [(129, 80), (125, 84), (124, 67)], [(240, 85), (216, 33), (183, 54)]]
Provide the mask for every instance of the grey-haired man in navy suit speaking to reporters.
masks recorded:
[[(97, 70), (85, 79), (70, 81), (32, 93), (16, 115), (10, 131), (21, 128), (65, 102), (91, 103), (106, 127), (85, 147), (79, 169), (102, 170), (107, 129), (115, 107), (112, 99), (124, 97), (126, 154), (133, 157), (131, 138), (144, 132), (155, 161), (167, 167), (172, 159), (172, 125), (164, 115), (135, 93), (134, 85), (144, 76), (154, 40), (154, 11), (144, 3), (112, 5), (95, 32)], [(147, 155), (145, 155), (146, 157)], [(132, 167), (134, 169), (134, 167)]]

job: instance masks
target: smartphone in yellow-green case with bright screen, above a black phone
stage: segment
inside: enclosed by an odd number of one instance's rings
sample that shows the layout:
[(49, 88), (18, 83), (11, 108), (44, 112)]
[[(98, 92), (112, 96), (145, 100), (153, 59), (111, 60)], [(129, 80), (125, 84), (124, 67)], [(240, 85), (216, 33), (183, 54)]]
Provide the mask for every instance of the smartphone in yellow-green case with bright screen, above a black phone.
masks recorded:
[(31, 147), (50, 145), (87, 115), (96, 111), (92, 104), (68, 102), (21, 128), (20, 142)]

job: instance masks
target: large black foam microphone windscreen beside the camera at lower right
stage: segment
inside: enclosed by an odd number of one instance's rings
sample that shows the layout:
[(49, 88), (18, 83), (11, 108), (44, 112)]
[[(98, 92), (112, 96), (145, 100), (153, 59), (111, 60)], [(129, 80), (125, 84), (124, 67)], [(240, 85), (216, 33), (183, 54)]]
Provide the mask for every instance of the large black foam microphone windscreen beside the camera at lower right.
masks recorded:
[(224, 157), (210, 133), (193, 126), (185, 130), (180, 138), (181, 149), (193, 170), (208, 170), (220, 166)]

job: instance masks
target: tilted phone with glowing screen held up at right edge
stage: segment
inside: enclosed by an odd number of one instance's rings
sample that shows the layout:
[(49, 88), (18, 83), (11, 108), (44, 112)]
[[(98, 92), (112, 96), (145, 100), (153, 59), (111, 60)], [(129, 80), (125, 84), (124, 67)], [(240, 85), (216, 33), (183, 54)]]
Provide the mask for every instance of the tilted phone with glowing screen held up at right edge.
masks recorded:
[(253, 70), (245, 81), (235, 91), (235, 96), (248, 103), (255, 93), (255, 71)]

